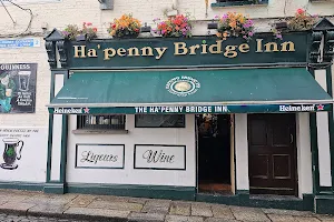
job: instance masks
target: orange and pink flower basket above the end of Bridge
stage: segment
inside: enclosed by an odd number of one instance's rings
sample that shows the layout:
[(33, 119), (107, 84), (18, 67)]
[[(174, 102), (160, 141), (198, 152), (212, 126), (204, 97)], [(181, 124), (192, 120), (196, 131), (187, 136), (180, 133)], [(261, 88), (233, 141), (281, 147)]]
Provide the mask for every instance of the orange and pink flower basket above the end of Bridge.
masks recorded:
[(254, 22), (242, 13), (227, 12), (218, 19), (217, 37), (226, 39), (228, 37), (242, 37), (249, 41), (254, 36)]

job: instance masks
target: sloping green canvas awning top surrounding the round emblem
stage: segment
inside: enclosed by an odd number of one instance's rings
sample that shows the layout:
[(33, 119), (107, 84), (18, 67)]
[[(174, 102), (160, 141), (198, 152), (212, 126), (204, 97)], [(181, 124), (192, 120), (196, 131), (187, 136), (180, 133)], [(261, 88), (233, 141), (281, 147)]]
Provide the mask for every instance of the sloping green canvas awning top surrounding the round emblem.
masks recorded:
[[(196, 93), (178, 97), (168, 92), (166, 83), (173, 78), (183, 75), (195, 78), (200, 83)], [(225, 102), (245, 104), (243, 101), (267, 103), (277, 100), (295, 100), (302, 103), (302, 100), (331, 100), (331, 97), (303, 68), (76, 72), (51, 104), (63, 108), (67, 107), (66, 104), (100, 107), (96, 105), (97, 103), (104, 107), (166, 105), (167, 103), (223, 105)]]

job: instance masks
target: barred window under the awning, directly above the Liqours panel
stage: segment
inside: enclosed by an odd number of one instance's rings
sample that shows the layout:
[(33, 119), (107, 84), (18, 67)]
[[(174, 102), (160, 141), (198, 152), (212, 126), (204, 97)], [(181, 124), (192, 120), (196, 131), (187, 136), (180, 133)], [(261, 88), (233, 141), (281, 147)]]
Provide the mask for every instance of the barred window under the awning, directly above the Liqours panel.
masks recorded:
[(125, 130), (126, 115), (78, 115), (78, 130)]

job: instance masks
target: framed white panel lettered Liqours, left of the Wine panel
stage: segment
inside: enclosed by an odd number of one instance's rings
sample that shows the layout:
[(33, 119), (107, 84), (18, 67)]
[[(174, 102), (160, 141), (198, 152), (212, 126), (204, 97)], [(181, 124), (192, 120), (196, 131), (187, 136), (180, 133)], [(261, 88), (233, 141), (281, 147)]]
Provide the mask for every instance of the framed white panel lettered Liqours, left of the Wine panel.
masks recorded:
[(76, 168), (124, 169), (124, 144), (77, 144)]

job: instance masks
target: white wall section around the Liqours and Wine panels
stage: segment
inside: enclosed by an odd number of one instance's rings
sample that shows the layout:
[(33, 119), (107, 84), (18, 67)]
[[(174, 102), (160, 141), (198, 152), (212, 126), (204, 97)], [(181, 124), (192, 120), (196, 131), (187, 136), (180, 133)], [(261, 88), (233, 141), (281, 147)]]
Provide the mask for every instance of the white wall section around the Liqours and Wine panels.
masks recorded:
[[(196, 185), (195, 115), (186, 114), (186, 128), (135, 128), (135, 115), (127, 115), (128, 134), (72, 134), (76, 115), (69, 118), (67, 181), (75, 183)], [(125, 169), (75, 169), (76, 143), (125, 144)], [(186, 145), (186, 170), (134, 169), (135, 144)]]

